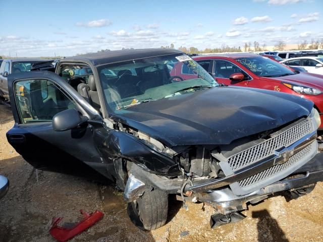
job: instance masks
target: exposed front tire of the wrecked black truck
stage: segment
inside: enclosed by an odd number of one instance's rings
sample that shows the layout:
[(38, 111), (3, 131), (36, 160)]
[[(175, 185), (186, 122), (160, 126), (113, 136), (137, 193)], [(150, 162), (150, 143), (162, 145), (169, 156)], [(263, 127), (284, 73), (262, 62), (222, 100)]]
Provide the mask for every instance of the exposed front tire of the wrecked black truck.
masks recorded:
[(146, 190), (135, 201), (128, 203), (131, 221), (142, 230), (163, 226), (168, 214), (168, 194), (160, 190)]

